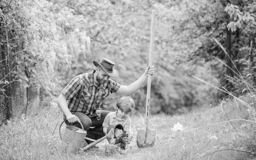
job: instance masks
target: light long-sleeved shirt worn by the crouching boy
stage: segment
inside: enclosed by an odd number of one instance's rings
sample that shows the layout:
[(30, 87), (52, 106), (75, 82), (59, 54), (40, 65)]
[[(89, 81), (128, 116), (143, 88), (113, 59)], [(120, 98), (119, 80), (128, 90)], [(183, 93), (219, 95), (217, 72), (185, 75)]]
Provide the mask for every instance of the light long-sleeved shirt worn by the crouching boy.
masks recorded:
[(125, 118), (118, 119), (116, 113), (117, 111), (108, 113), (102, 126), (108, 128), (109, 126), (121, 124), (126, 132), (131, 133), (131, 119), (129, 118), (129, 115)]

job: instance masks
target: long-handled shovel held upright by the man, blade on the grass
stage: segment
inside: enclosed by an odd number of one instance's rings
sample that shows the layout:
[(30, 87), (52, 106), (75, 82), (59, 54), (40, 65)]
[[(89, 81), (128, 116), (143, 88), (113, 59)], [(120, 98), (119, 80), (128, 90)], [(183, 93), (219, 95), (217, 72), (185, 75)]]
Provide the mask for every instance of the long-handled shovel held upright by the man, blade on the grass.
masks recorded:
[[(154, 45), (154, 19), (155, 12), (152, 11), (151, 18), (151, 34), (150, 34), (150, 47), (149, 47), (149, 67), (153, 64), (153, 45)], [(151, 90), (151, 75), (148, 75), (148, 86), (147, 86), (147, 100), (145, 109), (145, 127), (137, 129), (137, 146), (139, 148), (152, 147), (155, 141), (156, 130), (148, 128), (148, 114), (150, 104), (150, 90)]]

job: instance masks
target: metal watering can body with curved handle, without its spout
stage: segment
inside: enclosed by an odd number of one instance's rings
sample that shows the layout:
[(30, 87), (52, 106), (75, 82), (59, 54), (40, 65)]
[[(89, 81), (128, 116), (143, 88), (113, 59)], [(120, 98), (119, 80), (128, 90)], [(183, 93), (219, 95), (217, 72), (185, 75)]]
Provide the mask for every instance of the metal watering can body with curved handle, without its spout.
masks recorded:
[[(64, 120), (61, 125), (67, 120)], [(80, 124), (81, 122), (78, 121)], [(61, 137), (61, 125), (59, 128), (59, 134), (60, 138), (62, 140), (61, 150), (67, 153), (78, 153), (80, 148), (83, 148), (85, 146), (84, 144), (84, 138), (87, 134), (87, 132), (84, 130), (84, 126), (81, 124), (82, 129), (76, 127), (76, 126), (69, 126), (67, 125), (63, 138)]]

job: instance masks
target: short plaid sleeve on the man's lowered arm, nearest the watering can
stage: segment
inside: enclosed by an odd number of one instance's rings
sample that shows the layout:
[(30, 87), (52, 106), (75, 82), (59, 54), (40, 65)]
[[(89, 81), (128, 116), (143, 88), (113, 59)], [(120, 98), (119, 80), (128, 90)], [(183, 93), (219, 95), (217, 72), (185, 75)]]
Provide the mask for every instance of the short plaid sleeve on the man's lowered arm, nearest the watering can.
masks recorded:
[(70, 100), (71, 98), (76, 95), (76, 93), (81, 90), (81, 85), (80, 85), (80, 79), (79, 78), (74, 78), (70, 81), (69, 84), (62, 90), (62, 94), (64, 94), (67, 97), (67, 100)]

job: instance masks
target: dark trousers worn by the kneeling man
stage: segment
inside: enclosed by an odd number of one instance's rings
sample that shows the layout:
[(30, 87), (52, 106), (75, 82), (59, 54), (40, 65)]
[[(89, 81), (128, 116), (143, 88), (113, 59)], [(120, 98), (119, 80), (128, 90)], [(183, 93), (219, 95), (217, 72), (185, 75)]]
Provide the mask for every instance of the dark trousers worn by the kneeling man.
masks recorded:
[[(104, 122), (106, 115), (108, 115), (108, 113), (110, 112), (111, 111), (101, 110), (101, 116), (99, 121), (97, 120), (96, 117), (89, 117), (81, 112), (74, 112), (73, 115), (76, 115), (81, 121), (81, 124), (83, 125), (84, 130), (87, 132), (86, 137), (92, 138), (94, 140), (98, 140), (99, 138), (102, 138), (105, 136), (103, 132), (102, 123)], [(66, 121), (66, 124), (70, 126), (77, 126), (79, 128), (82, 128), (79, 122), (69, 123), (68, 121)], [(87, 140), (87, 143), (91, 143), (91, 141)]]

